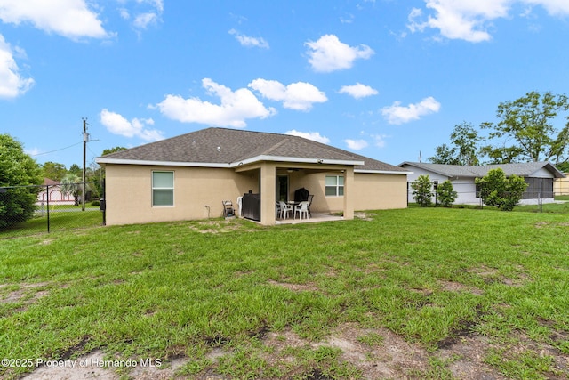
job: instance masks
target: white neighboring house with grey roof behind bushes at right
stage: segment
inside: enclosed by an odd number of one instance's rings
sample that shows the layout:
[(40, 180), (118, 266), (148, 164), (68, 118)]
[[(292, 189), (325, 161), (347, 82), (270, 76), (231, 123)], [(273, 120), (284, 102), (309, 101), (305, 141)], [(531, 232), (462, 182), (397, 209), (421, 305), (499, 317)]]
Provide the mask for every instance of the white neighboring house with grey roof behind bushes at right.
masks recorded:
[[(456, 204), (480, 204), (479, 193), (475, 179), (484, 177), (492, 169), (500, 167), (506, 175), (516, 174), (524, 177), (528, 184), (521, 204), (536, 204), (541, 198), (542, 202), (553, 202), (553, 181), (564, 178), (565, 175), (549, 162), (528, 162), (520, 164), (501, 164), (484, 166), (461, 166), (444, 164), (425, 164), (421, 162), (404, 162), (399, 165), (406, 170), (413, 171), (407, 176), (408, 182), (415, 181), (421, 174), (428, 174), (431, 182), (438, 183), (450, 180), (453, 190), (458, 193)], [(414, 202), (413, 190), (409, 187), (409, 202)]]

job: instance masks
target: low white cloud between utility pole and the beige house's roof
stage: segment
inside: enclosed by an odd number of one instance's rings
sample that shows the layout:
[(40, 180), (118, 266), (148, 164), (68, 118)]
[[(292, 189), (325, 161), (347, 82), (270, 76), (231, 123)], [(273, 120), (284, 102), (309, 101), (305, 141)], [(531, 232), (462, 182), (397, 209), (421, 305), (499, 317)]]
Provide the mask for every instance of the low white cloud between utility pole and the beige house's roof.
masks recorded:
[(148, 129), (147, 125), (154, 125), (154, 120), (145, 118), (133, 118), (128, 121), (122, 115), (111, 112), (108, 109), (100, 111), (100, 123), (105, 125), (108, 132), (120, 134), (124, 137), (139, 137), (145, 141), (158, 141), (164, 139), (160, 131)]

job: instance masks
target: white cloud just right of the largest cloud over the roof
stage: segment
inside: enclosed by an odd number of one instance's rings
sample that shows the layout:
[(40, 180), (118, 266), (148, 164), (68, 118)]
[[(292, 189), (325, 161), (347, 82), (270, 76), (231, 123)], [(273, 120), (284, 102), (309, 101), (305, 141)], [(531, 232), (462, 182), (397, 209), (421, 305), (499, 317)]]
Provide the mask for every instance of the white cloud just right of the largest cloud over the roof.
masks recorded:
[(276, 80), (259, 78), (253, 80), (248, 86), (271, 101), (283, 101), (285, 109), (308, 111), (312, 109), (314, 103), (328, 101), (325, 93), (306, 82), (296, 82), (285, 86)]

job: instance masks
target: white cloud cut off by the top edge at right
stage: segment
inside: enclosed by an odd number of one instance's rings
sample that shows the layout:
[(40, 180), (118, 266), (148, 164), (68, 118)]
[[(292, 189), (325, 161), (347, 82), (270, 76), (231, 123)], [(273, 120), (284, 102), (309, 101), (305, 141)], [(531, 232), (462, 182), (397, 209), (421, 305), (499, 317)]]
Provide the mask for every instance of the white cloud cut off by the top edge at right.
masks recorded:
[(433, 14), (421, 22), (422, 10), (413, 8), (407, 28), (413, 33), (434, 28), (445, 38), (473, 43), (488, 41), (492, 38), (488, 32), (492, 20), (509, 17), (510, 7), (516, 3), (541, 5), (550, 15), (569, 14), (566, 0), (425, 0)]

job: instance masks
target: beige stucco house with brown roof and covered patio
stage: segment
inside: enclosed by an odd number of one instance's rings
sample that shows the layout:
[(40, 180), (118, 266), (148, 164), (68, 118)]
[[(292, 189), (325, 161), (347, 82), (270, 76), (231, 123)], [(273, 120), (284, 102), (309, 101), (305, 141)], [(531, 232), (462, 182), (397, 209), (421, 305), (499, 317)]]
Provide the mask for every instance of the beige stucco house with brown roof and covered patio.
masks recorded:
[(270, 225), (276, 201), (301, 188), (314, 195), (313, 211), (345, 219), (406, 207), (405, 169), (286, 134), (207, 128), (96, 161), (106, 171), (108, 224), (218, 217), (222, 201), (252, 193)]

